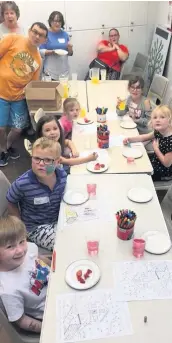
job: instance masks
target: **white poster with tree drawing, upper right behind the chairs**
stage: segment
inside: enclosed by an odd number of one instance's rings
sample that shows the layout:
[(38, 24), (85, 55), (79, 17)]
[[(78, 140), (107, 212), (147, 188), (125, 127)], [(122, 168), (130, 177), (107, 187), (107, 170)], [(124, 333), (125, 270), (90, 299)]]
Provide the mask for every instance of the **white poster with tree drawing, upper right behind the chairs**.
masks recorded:
[(166, 28), (157, 26), (148, 56), (147, 64), (147, 91), (150, 88), (155, 74), (162, 75), (167, 58), (168, 48), (171, 40), (171, 32)]

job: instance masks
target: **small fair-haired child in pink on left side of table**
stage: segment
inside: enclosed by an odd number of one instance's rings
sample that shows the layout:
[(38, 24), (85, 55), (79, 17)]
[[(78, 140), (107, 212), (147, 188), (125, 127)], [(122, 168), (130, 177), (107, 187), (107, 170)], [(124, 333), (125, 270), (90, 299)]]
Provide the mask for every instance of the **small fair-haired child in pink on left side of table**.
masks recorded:
[(59, 119), (65, 138), (71, 138), (73, 120), (78, 118), (79, 112), (80, 104), (75, 98), (65, 99), (63, 103), (63, 116)]

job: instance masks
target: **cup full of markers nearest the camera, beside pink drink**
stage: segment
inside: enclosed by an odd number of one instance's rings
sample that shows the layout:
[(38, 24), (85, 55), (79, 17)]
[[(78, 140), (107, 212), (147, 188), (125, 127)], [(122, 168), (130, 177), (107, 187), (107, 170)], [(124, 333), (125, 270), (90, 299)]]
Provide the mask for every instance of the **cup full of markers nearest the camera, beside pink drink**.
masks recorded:
[(123, 241), (128, 241), (134, 233), (134, 225), (136, 221), (134, 211), (124, 209), (116, 213), (117, 220), (117, 237)]

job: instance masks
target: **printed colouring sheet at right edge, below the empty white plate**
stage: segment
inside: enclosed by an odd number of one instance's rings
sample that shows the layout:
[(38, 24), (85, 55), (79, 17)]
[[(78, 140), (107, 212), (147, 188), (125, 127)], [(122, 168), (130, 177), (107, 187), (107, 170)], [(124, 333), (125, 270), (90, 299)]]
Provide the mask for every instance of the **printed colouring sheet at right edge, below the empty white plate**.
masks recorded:
[(116, 301), (172, 299), (172, 261), (116, 262)]

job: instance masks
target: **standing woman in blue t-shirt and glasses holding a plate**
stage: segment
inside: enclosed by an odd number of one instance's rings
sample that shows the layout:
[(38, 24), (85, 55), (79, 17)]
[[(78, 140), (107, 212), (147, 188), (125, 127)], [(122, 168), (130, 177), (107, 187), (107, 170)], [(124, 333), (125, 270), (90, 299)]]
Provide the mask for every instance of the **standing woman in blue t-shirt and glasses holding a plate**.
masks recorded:
[[(49, 32), (47, 43), (40, 46), (40, 53), (44, 59), (43, 72), (45, 75), (50, 75), (51, 79), (58, 80), (60, 74), (66, 74), (69, 71), (68, 55), (73, 55), (72, 44), (69, 42), (69, 36), (64, 31), (63, 15), (54, 11), (50, 14)], [(60, 49), (63, 55), (59, 55), (55, 50)], [(65, 52), (67, 54), (65, 55)]]

